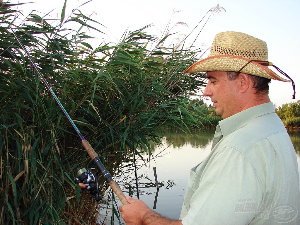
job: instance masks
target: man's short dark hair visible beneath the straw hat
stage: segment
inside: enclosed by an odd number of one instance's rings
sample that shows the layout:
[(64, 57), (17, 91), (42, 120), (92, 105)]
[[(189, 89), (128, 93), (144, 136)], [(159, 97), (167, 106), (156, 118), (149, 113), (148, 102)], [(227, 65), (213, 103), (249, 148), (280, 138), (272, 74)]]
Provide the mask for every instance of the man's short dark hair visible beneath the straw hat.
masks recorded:
[[(229, 80), (235, 80), (239, 74), (238, 72), (233, 71), (226, 71), (226, 73)], [(269, 93), (269, 83), (271, 82), (271, 79), (261, 76), (254, 76), (251, 74), (248, 75), (250, 76), (250, 79), (253, 82), (252, 87), (256, 89), (256, 94)]]

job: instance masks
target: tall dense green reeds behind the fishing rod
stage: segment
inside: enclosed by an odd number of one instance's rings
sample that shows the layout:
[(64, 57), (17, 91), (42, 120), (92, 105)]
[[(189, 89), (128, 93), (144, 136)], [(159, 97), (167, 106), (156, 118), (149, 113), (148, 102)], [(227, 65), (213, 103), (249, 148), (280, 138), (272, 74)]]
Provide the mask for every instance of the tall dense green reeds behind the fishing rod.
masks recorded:
[(18, 5), (0, 1), (0, 224), (95, 224), (105, 203), (73, 182), (77, 167), (93, 163), (8, 26), (112, 175), (133, 154), (151, 155), (162, 128), (189, 133), (210, 123), (189, 98), (205, 85), (202, 75), (183, 73), (201, 49), (173, 43), (170, 24), (161, 37), (146, 26), (92, 47), (89, 31), (102, 33), (102, 25), (80, 10), (66, 16), (65, 3), (59, 19), (31, 14), (18, 22)]

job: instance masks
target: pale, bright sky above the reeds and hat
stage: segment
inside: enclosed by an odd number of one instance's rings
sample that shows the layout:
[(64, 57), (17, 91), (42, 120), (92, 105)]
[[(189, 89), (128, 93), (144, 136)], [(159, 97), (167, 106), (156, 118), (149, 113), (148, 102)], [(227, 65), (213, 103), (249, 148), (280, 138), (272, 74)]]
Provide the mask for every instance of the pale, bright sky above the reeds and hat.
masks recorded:
[[(68, 0), (66, 14), (88, 0)], [(10, 2), (16, 3), (16, 0)], [(19, 2), (29, 2), (19, 0)], [(60, 17), (64, 0), (33, 0), (22, 5), (23, 14), (32, 10), (43, 13), (52, 11), (53, 16)], [(168, 21), (171, 25), (184, 22), (188, 25), (177, 26), (179, 33), (188, 33), (205, 16), (205, 13), (219, 4), (226, 12), (212, 15), (197, 38), (197, 45), (209, 54), (214, 36), (219, 32), (237, 31), (259, 38), (267, 43), (268, 61), (287, 73), (295, 82), (296, 96), (292, 100), (292, 84), (272, 80), (270, 83), (271, 102), (278, 106), (300, 99), (300, 76), (298, 73), (300, 52), (300, 1), (298, 0), (93, 0), (79, 9), (83, 14), (91, 14), (91, 18), (105, 27), (99, 28), (106, 36), (105, 40), (118, 42), (123, 33), (137, 30), (148, 24), (153, 26), (151, 32), (163, 31)], [(175, 12), (175, 13), (174, 13)], [(204, 24), (204, 23), (203, 23)], [(101, 39), (102, 38), (102, 39)], [(98, 45), (103, 37), (94, 40)], [(205, 58), (207, 55), (203, 55)], [(208, 100), (207, 103), (210, 101)]]

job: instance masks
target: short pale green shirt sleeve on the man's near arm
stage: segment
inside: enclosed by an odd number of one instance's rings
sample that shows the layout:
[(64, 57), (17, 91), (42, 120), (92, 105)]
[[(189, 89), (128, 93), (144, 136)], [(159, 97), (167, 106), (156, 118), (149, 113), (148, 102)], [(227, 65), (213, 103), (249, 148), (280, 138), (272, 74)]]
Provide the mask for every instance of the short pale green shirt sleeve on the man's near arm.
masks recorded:
[[(257, 171), (241, 152), (226, 147), (210, 158), (194, 176), (189, 209), (182, 218), (191, 224), (249, 224), (262, 201)], [(248, 205), (248, 208), (247, 208)]]

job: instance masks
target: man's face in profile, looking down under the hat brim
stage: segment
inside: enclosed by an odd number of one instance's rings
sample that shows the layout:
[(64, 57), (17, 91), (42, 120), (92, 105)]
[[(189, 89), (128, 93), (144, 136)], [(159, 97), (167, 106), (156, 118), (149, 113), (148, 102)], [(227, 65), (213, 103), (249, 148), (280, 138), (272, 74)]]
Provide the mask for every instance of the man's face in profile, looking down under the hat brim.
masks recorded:
[(238, 107), (238, 79), (228, 80), (225, 71), (208, 71), (203, 94), (210, 97), (217, 115), (223, 119), (241, 111)]

